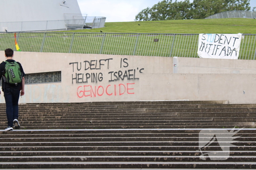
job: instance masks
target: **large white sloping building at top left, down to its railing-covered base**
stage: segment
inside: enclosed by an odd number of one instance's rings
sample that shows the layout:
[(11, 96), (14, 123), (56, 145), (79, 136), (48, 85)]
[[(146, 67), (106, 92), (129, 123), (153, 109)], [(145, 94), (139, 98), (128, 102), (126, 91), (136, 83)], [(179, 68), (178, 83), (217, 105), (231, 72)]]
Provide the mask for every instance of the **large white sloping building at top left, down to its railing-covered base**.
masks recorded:
[(0, 32), (82, 29), (85, 23), (77, 0), (0, 0)]

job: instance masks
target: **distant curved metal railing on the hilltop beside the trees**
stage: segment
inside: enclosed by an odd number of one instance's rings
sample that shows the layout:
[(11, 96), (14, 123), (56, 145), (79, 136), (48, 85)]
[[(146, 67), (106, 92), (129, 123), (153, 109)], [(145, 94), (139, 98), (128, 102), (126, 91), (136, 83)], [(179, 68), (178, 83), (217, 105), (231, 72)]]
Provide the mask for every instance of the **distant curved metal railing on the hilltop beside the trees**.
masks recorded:
[(256, 11), (225, 11), (208, 16), (205, 19), (219, 18), (256, 18)]

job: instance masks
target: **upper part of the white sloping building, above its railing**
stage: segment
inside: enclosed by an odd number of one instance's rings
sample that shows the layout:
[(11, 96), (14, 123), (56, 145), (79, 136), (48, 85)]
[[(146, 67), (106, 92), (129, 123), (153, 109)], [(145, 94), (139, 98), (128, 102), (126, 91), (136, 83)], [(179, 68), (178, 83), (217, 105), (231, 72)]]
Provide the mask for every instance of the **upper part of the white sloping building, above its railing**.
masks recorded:
[(77, 0), (0, 1), (0, 22), (65, 20), (64, 13), (81, 15)]

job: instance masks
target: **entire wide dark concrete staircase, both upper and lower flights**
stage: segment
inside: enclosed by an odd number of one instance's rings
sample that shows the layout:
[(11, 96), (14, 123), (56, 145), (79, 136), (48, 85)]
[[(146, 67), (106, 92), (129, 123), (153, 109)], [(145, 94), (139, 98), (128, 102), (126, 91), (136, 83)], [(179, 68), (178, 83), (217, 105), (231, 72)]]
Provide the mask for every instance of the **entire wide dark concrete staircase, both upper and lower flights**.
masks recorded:
[(19, 110), (21, 129), (5, 132), (0, 105), (1, 169), (256, 169), (256, 104), (35, 103)]

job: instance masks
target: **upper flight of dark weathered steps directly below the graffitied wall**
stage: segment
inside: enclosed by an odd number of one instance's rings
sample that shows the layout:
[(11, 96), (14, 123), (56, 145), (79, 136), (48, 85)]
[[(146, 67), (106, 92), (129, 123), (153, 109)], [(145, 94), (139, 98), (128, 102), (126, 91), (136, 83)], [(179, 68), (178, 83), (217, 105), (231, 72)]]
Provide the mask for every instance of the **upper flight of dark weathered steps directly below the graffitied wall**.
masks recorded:
[[(34, 103), (19, 106), (21, 129), (233, 128), (256, 126), (256, 104), (202, 102)], [(0, 105), (0, 129), (5, 129)]]

